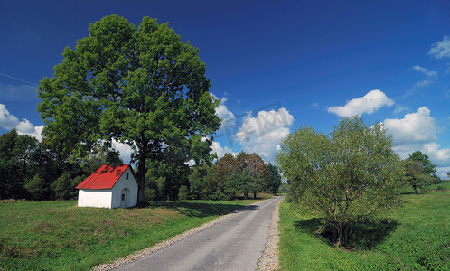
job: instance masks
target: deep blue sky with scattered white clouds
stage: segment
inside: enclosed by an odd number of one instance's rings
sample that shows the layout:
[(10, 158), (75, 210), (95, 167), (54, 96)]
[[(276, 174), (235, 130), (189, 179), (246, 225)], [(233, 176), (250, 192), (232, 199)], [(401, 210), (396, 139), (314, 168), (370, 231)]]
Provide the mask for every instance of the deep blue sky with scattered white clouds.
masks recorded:
[[(213, 147), (273, 161), (300, 126), (381, 121), (402, 157), (450, 172), (448, 1), (2, 1), (0, 133), (39, 136), (36, 86), (108, 14), (169, 22), (199, 48), (226, 119)], [(127, 150), (123, 145), (124, 157)]]

